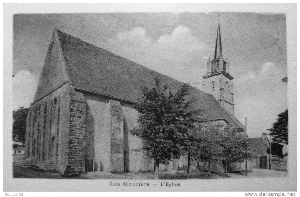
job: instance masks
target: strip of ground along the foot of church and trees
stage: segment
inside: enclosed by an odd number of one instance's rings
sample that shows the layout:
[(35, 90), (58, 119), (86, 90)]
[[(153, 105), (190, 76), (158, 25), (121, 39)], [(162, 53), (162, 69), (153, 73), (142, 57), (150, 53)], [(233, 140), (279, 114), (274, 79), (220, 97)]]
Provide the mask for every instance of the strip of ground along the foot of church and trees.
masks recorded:
[[(247, 173), (227, 173), (214, 174), (210, 176), (207, 172), (190, 172), (190, 179), (220, 179), (220, 178), (253, 178), (253, 177), (283, 177), (287, 176), (285, 171), (253, 169)], [(13, 165), (14, 178), (67, 178), (55, 172), (38, 172), (30, 168), (24, 168)], [(109, 172), (87, 172), (78, 177), (71, 177), (77, 179), (153, 179), (153, 172), (129, 172), (129, 173), (109, 173)], [(159, 171), (159, 179), (186, 179), (185, 170), (173, 171)]]

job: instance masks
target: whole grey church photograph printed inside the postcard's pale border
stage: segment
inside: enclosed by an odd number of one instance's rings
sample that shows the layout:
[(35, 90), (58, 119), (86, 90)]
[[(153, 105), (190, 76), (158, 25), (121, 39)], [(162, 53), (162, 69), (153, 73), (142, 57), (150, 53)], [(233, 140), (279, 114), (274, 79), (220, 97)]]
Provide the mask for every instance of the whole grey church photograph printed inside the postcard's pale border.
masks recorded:
[(287, 57), (284, 13), (16, 13), (13, 179), (284, 180)]

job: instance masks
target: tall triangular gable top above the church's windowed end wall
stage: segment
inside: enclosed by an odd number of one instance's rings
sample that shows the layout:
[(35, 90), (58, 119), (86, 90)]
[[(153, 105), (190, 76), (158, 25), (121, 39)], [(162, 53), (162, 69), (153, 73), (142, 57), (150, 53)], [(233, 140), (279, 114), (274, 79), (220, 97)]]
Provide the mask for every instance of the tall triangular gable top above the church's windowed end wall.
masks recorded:
[(70, 81), (69, 75), (65, 69), (57, 30), (54, 29), (35, 93), (34, 103), (68, 81)]

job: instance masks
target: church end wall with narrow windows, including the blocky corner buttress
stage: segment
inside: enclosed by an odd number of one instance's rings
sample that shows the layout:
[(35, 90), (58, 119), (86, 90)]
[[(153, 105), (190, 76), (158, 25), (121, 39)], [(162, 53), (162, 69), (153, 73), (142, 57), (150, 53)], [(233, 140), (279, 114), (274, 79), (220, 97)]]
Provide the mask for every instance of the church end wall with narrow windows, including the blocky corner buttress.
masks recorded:
[(65, 175), (84, 172), (85, 111), (83, 94), (69, 84), (32, 104), (26, 122), (26, 157)]

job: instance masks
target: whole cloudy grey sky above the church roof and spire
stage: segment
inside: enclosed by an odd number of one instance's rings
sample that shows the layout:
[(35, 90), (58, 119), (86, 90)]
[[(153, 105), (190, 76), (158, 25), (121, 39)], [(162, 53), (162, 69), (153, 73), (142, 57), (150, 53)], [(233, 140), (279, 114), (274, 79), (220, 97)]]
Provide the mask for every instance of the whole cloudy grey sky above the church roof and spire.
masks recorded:
[[(13, 18), (13, 108), (33, 101), (53, 28), (201, 90), (213, 57), (217, 14), (17, 14)], [(260, 137), (287, 108), (286, 17), (220, 13), (223, 57), (234, 78), (235, 117)]]

